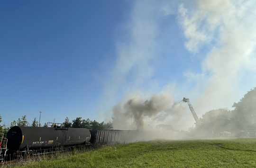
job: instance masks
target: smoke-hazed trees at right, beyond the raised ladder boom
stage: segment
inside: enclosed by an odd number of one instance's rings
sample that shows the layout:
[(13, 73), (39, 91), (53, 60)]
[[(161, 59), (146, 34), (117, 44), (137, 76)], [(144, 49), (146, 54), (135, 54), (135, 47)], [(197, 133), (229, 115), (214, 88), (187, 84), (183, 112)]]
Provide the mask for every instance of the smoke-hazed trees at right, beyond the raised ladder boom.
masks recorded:
[(194, 130), (204, 130), (208, 133), (256, 130), (256, 88), (248, 91), (232, 107), (234, 110), (220, 108), (206, 112), (199, 119), (201, 125), (196, 124)]

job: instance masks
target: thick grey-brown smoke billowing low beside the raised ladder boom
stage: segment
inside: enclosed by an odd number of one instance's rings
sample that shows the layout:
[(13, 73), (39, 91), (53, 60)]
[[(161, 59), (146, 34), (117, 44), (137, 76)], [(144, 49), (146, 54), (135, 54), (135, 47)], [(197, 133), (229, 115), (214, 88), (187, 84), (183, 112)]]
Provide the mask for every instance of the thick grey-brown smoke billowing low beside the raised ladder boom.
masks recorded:
[[(169, 94), (155, 94), (148, 100), (131, 97), (113, 107), (113, 127), (145, 130), (145, 127), (152, 129), (156, 124), (168, 121), (168, 124), (172, 125), (184, 115), (185, 111), (186, 106), (175, 102)], [(169, 116), (172, 117), (168, 118)]]

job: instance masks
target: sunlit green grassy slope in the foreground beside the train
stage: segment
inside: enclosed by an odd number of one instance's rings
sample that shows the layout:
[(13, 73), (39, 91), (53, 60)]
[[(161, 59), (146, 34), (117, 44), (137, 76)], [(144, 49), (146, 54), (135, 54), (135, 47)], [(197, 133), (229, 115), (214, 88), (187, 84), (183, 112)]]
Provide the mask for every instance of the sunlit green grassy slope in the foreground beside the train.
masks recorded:
[[(19, 166), (20, 167), (20, 166)], [(22, 168), (235, 168), (256, 167), (256, 139), (150, 141), (106, 147)]]

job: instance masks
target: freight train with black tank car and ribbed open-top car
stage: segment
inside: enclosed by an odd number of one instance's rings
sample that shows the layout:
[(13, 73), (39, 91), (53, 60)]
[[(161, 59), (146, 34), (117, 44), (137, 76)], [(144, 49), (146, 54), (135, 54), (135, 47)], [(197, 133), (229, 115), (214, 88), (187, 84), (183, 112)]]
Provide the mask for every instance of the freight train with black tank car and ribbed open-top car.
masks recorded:
[(0, 153), (2, 159), (8, 154), (30, 155), (38, 150), (48, 151), (60, 147), (144, 141), (146, 132), (14, 126), (7, 133), (6, 139), (6, 148)]

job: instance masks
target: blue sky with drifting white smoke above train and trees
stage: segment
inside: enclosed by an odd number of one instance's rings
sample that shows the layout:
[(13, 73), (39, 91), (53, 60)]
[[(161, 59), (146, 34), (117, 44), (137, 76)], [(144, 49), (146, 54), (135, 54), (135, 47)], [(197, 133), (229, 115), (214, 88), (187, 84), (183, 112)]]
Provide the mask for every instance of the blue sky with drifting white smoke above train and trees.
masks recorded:
[[(1, 124), (23, 115), (32, 123), (39, 111), (43, 124), (109, 121), (130, 97), (162, 93), (190, 98), (199, 117), (231, 109), (256, 87), (255, 7), (253, 0), (2, 0)], [(176, 129), (194, 123), (188, 109), (183, 114)]]

